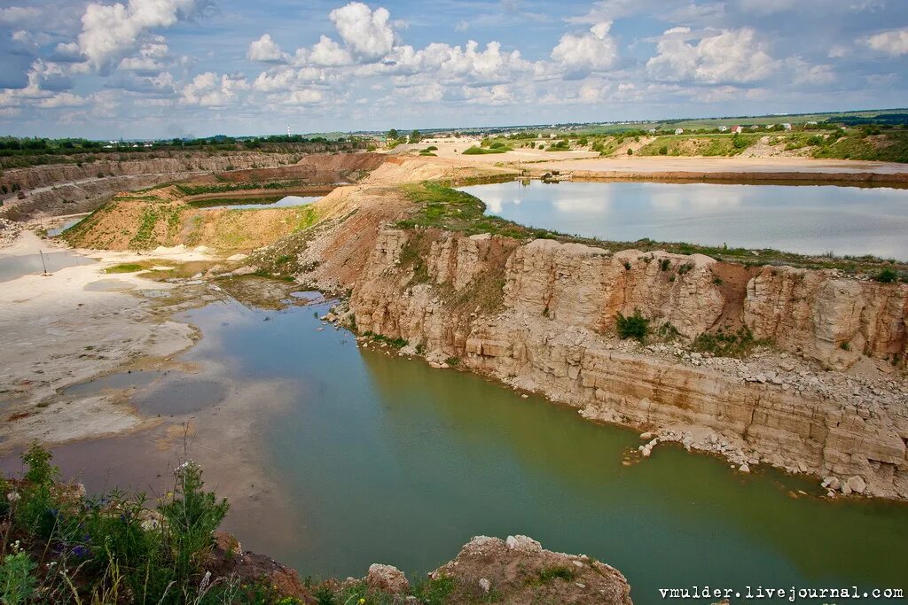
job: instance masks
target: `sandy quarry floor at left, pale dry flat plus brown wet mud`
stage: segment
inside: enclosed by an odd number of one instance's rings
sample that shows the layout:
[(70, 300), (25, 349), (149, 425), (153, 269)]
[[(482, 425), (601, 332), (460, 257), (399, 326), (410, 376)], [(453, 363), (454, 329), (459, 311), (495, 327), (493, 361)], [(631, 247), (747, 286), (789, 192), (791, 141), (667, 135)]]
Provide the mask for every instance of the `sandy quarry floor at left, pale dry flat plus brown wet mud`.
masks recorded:
[[(25, 231), (0, 256), (38, 250), (60, 251)], [(202, 464), (209, 487), (231, 502), (227, 529), (253, 542), (265, 535), (279, 545), (281, 536), (290, 540), (280, 528), (301, 523), (291, 520), (289, 499), (271, 480), (257, 446), (288, 402), (286, 385), (234, 381), (229, 367), (175, 359), (199, 334), (173, 321), (173, 313), (227, 295), (198, 282), (104, 274), (112, 264), (150, 255), (84, 252), (98, 262), (0, 283), (0, 469), (19, 472), (19, 452), (38, 440), (53, 449), (65, 477), (94, 493), (128, 482), (130, 489), (153, 496), (173, 488), (173, 468), (190, 458)], [(211, 260), (204, 250), (182, 247), (151, 256), (173, 263)], [(69, 385), (127, 370), (166, 374), (140, 387), (65, 392)], [(143, 388), (186, 379), (217, 385), (223, 395), (183, 415), (145, 414), (131, 403)]]

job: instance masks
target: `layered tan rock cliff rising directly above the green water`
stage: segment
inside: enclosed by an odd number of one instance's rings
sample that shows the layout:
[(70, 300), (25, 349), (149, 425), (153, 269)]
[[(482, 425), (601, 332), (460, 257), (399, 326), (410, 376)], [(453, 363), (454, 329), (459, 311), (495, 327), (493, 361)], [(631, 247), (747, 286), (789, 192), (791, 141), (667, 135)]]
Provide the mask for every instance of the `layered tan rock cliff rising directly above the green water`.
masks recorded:
[[(552, 240), (519, 245), (380, 229), (374, 241), (350, 282), (360, 330), (405, 338), (435, 362), (457, 356), (462, 366), (575, 405), (590, 419), (706, 428), (749, 452), (739, 464), (753, 457), (820, 476), (860, 474), (867, 493), (908, 497), (903, 378), (864, 385), (822, 372), (868, 357), (888, 372), (898, 372), (893, 362), (904, 366), (906, 285)], [(414, 255), (426, 268), (422, 278)], [(637, 308), (684, 337), (750, 327), (787, 351), (779, 361), (788, 371), (754, 374), (736, 360), (617, 344), (617, 312)], [(818, 375), (802, 369), (810, 363), (822, 366)]]

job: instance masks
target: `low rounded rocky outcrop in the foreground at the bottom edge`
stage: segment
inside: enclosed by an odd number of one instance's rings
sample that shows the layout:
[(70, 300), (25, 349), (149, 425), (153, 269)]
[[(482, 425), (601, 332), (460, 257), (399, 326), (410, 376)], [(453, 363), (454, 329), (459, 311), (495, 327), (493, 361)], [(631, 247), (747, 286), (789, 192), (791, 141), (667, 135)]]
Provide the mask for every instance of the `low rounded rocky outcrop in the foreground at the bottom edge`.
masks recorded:
[(431, 573), (456, 581), (449, 602), (474, 602), (494, 590), (505, 603), (630, 605), (624, 575), (586, 555), (546, 551), (527, 536), (477, 536), (454, 561)]

